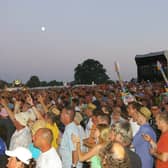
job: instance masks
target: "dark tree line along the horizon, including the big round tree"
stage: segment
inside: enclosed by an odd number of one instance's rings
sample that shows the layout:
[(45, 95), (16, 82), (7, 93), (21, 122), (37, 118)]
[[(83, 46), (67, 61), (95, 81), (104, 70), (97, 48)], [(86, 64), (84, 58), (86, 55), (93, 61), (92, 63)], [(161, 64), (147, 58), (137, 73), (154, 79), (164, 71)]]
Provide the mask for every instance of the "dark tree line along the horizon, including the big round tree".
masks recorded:
[[(74, 81), (71, 81), (71, 84), (102, 84), (102, 83), (111, 83), (109, 76), (106, 74), (106, 69), (103, 65), (94, 59), (87, 59), (81, 64), (78, 64), (74, 69)], [(21, 83), (12, 82), (8, 83), (6, 81), (0, 80), (0, 88), (5, 86), (14, 86), (20, 85)], [(39, 77), (33, 75), (30, 79), (24, 84), (26, 87), (39, 87), (39, 86), (61, 86), (63, 85), (62, 81), (52, 80), (50, 82), (40, 81)]]

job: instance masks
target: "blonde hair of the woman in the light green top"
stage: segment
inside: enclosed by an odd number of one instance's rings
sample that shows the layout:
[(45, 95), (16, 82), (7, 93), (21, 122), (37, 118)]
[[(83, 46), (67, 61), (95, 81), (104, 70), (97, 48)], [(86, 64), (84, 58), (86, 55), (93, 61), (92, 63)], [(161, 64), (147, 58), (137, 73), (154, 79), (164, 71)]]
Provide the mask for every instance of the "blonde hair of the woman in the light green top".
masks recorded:
[(109, 134), (110, 134), (110, 126), (107, 124), (98, 124), (97, 129), (100, 132), (99, 140), (100, 142), (108, 142), (109, 141)]

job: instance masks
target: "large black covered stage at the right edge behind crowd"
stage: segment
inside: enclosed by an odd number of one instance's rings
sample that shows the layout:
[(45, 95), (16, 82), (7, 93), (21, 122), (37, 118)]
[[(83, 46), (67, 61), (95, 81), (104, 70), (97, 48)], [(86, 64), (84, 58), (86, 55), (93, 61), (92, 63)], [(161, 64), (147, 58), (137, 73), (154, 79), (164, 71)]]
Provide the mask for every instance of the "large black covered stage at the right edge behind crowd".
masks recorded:
[(136, 55), (137, 79), (141, 81), (161, 81), (163, 77), (157, 69), (157, 61), (162, 64), (163, 70), (168, 76), (168, 51), (153, 52), (144, 55)]

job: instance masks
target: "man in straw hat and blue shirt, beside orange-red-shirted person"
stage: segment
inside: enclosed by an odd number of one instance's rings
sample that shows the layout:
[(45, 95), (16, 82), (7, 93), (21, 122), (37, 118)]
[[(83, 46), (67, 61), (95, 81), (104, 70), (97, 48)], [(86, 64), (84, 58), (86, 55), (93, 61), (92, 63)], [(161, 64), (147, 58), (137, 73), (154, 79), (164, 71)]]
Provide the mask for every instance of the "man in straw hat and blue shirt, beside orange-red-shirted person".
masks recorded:
[(139, 155), (142, 162), (142, 168), (153, 168), (153, 157), (149, 153), (150, 144), (143, 139), (143, 134), (149, 134), (156, 141), (156, 134), (148, 121), (151, 117), (151, 112), (147, 107), (141, 107), (138, 111), (137, 122), (140, 125), (139, 131), (133, 138), (133, 146), (135, 152)]

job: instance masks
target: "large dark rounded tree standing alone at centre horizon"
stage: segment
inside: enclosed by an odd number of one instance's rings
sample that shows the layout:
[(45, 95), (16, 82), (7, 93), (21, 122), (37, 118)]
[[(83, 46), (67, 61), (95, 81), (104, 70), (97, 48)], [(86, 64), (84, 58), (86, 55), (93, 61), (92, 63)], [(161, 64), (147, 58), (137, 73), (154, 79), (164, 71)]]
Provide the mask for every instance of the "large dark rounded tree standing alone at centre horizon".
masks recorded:
[(96, 84), (105, 83), (109, 77), (103, 65), (94, 59), (87, 59), (82, 64), (78, 64), (75, 68), (75, 82), (77, 84)]

